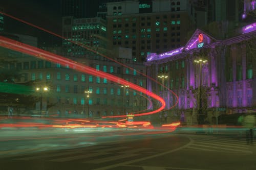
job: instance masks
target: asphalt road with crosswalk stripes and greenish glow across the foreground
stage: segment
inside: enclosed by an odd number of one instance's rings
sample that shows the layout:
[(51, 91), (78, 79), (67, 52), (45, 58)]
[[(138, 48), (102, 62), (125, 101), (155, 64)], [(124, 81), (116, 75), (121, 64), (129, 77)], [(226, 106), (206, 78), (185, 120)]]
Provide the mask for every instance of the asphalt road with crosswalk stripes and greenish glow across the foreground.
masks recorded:
[(239, 135), (154, 130), (20, 129), (0, 132), (0, 169), (255, 169)]

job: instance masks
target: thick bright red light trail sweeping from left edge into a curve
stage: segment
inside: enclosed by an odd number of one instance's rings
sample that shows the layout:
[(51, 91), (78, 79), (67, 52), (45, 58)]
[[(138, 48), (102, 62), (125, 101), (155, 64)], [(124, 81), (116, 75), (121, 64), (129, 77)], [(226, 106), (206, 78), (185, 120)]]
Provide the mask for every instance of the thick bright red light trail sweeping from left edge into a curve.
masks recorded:
[[(61, 65), (65, 66), (66, 64), (68, 64), (70, 66), (70, 68), (73, 68), (75, 70), (93, 75), (93, 76), (98, 76), (100, 78), (107, 78), (110, 81), (116, 82), (118, 84), (122, 84), (122, 85), (129, 85), (131, 89), (140, 91), (148, 96), (151, 96), (153, 99), (156, 99), (157, 101), (159, 101), (162, 106), (160, 108), (158, 108), (157, 110), (151, 111), (151, 112), (146, 112), (146, 113), (139, 113), (136, 114), (136, 116), (142, 116), (142, 115), (148, 115), (148, 114), (154, 114), (157, 113), (161, 110), (164, 109), (165, 107), (165, 102), (162, 98), (160, 98), (160, 96), (158, 96), (157, 94), (148, 91), (136, 84), (133, 84), (129, 81), (126, 81), (124, 79), (121, 79), (119, 77), (113, 76), (111, 74), (108, 74), (106, 72), (100, 71), (100, 70), (96, 70), (95, 68), (83, 65), (81, 63), (77, 63), (73, 60), (67, 59), (65, 57), (61, 57), (59, 55), (56, 54), (52, 54), (50, 52), (41, 50), (39, 48), (36, 48), (34, 46), (31, 45), (27, 45), (3, 36), (0, 36), (0, 46), (3, 46), (5, 48), (8, 48), (10, 50), (14, 50), (20, 53), (24, 53), (24, 54), (28, 54), (37, 58), (42, 58), (45, 59), (47, 61), (50, 62), (55, 62), (55, 63), (60, 63)], [(126, 115), (117, 115), (117, 116), (111, 116), (111, 117), (125, 117)]]

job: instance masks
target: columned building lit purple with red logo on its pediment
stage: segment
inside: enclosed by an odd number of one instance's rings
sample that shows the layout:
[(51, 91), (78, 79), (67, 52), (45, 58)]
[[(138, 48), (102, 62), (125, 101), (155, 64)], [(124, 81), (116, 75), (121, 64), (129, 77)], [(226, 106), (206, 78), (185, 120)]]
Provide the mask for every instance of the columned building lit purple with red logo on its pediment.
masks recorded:
[[(214, 123), (219, 114), (247, 113), (256, 109), (256, 23), (244, 26), (237, 36), (219, 40), (197, 29), (185, 46), (147, 56), (147, 76), (178, 94), (175, 96), (158, 83), (147, 80), (147, 88), (163, 96), (170, 121), (180, 118), (191, 125), (197, 123), (200, 74), (202, 110), (206, 120)], [(201, 64), (195, 60), (207, 60)], [(200, 71), (201, 70), (201, 71)], [(159, 75), (167, 78), (161, 80)], [(155, 107), (157, 107), (155, 105)]]

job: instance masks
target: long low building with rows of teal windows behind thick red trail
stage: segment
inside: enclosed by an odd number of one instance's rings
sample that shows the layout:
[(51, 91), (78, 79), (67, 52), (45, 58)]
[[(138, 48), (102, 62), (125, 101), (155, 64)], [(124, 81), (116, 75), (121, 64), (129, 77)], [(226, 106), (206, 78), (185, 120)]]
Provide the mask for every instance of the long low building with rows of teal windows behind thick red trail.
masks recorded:
[[(18, 41), (36, 46), (36, 39), (33, 37), (23, 35), (9, 35), (8, 37), (14, 37)], [(60, 54), (61, 48), (59, 51), (56, 49), (54, 47), (54, 50), (48, 49), (48, 51)], [(146, 78), (139, 73), (145, 74), (144, 66), (131, 60), (130, 49), (120, 48), (119, 51), (116, 53), (122, 55), (116, 60), (133, 69), (97, 54), (91, 54), (89, 58), (69, 57), (69, 59), (93, 67), (95, 71), (107, 72), (145, 88)], [(124, 112), (131, 113), (147, 107), (147, 99), (140, 95), (140, 92), (129, 89), (129, 87), (123, 88), (120, 84), (110, 82), (106, 78), (94, 77), (76, 71), (69, 65), (52, 63), (41, 58), (4, 50), (4, 48), (2, 52), (9, 56), (9, 61), (15, 61), (7, 63), (5, 67), (17, 69), (23, 75), (15, 80), (16, 83), (34, 82), (33, 95), (38, 97), (42, 95), (43, 112), (48, 110), (49, 114), (58, 113), (62, 116), (81, 113), (88, 115), (89, 113), (92, 117), (100, 117), (121, 115), (125, 114)], [(36, 91), (36, 88), (42, 87), (47, 87), (48, 90)], [(90, 91), (90, 93), (85, 91)], [(40, 110), (40, 98), (35, 108), (30, 109)]]

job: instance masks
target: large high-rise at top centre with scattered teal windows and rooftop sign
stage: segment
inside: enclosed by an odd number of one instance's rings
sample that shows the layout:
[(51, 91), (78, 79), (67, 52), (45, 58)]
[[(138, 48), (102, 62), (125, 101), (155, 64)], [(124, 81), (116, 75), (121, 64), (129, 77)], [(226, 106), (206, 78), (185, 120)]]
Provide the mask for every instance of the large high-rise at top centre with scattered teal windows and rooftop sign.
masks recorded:
[(191, 22), (187, 1), (125, 1), (107, 3), (108, 49), (132, 49), (134, 61), (150, 52), (163, 53), (186, 43)]

